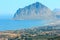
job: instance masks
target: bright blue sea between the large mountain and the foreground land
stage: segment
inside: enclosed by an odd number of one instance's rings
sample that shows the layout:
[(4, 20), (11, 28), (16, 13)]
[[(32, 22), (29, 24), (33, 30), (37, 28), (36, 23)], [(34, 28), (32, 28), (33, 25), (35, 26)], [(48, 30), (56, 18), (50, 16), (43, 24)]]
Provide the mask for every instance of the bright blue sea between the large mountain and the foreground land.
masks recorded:
[(0, 31), (44, 26), (48, 20), (0, 20)]

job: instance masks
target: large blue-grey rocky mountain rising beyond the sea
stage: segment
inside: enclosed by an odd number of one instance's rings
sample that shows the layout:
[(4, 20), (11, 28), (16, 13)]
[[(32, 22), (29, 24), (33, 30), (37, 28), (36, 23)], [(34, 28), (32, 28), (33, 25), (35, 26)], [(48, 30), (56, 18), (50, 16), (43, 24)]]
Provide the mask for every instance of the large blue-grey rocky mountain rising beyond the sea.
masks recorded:
[(52, 11), (43, 4), (36, 2), (24, 8), (19, 8), (14, 14), (14, 20), (53, 19)]

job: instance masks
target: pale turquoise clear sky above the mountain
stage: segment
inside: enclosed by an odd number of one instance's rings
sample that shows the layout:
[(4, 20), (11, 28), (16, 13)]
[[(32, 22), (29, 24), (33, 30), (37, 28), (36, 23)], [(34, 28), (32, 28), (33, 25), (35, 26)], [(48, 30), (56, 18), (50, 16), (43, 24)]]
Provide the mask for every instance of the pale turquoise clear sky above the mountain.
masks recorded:
[(12, 18), (17, 9), (35, 2), (40, 2), (51, 10), (60, 8), (60, 0), (0, 0), (0, 19)]

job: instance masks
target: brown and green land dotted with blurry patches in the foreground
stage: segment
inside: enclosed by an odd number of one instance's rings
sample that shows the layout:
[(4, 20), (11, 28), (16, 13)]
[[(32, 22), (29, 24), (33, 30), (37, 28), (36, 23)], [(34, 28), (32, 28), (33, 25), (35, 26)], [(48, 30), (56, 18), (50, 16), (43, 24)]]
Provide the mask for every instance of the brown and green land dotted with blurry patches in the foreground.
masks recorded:
[(60, 40), (60, 29), (32, 28), (0, 32), (0, 40)]

